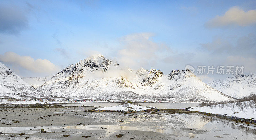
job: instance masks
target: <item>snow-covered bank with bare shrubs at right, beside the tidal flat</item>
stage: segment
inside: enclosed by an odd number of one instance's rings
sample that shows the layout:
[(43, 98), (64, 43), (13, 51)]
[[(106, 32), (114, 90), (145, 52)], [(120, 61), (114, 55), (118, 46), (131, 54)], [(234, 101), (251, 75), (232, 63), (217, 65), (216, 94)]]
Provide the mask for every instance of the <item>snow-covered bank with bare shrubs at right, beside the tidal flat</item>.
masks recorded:
[(205, 107), (191, 107), (189, 110), (256, 120), (256, 104), (253, 100), (212, 106), (208, 105)]

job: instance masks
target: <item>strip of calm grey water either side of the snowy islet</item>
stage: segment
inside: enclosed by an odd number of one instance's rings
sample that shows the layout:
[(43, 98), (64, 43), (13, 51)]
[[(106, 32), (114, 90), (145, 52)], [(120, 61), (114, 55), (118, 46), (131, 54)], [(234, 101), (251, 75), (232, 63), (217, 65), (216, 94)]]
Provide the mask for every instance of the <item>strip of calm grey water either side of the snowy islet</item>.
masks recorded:
[[(198, 103), (139, 103), (143, 107), (153, 106), (158, 109), (184, 109), (188, 107), (196, 107)], [(102, 107), (111, 107), (116, 106), (118, 103), (70, 103), (64, 104), (63, 106), (102, 106)]]

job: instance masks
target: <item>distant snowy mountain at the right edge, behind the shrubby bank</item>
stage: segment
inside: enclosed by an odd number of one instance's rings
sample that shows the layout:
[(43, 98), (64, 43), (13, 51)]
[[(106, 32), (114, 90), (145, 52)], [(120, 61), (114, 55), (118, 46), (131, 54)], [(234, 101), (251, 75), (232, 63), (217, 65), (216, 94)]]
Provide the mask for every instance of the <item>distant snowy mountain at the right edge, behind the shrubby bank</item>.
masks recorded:
[(207, 85), (210, 85), (226, 95), (242, 98), (251, 93), (256, 94), (256, 75), (233, 75), (224, 80), (208, 82)]

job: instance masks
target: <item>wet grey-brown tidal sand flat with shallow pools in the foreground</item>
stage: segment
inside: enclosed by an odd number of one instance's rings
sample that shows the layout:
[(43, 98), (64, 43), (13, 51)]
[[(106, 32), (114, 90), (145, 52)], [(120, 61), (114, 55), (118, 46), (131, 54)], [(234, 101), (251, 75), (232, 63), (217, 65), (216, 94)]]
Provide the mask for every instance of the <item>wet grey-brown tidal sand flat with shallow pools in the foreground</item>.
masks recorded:
[[(201, 114), (84, 112), (94, 108), (0, 108), (0, 132), (3, 133), (0, 139), (183, 140), (255, 139), (256, 136), (255, 127)], [(120, 120), (124, 122), (117, 122)], [(41, 129), (46, 133), (41, 133)], [(25, 135), (20, 136), (21, 133)], [(117, 138), (117, 134), (123, 136)]]

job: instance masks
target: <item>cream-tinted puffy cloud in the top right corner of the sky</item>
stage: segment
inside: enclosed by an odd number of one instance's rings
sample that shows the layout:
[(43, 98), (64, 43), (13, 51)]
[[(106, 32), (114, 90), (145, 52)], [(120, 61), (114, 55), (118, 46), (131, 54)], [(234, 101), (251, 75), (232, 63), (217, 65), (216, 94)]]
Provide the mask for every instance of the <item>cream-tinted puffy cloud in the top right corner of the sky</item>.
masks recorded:
[(228, 25), (247, 26), (256, 23), (256, 10), (245, 12), (240, 7), (231, 7), (223, 16), (217, 15), (206, 23), (209, 28)]

